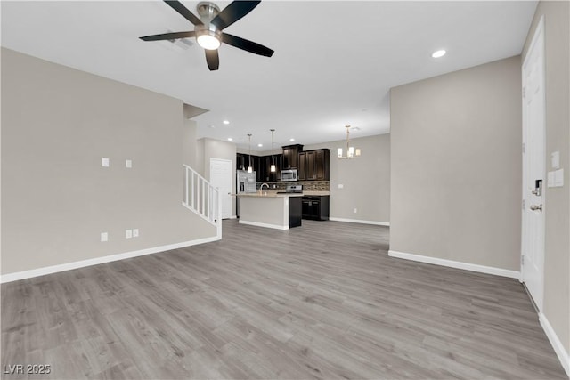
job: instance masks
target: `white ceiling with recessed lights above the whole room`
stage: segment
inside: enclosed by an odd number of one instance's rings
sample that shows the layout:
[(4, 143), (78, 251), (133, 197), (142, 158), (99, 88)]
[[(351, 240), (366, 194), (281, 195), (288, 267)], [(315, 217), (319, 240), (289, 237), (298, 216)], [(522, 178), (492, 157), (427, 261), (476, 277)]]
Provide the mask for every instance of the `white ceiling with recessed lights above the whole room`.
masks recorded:
[[(182, 2), (196, 12), (196, 1)], [(230, 2), (217, 2), (224, 8)], [(138, 37), (192, 30), (161, 1), (2, 1), (2, 45), (47, 61), (165, 93), (209, 109), (199, 137), (252, 150), (389, 132), (388, 91), (521, 53), (534, 1), (264, 1), (228, 33), (272, 48), (230, 45), (209, 71), (203, 50)], [(185, 47), (185, 48), (184, 48)], [(431, 53), (444, 48), (441, 59)], [(230, 125), (223, 125), (227, 119)], [(257, 148), (263, 143), (263, 148)]]

